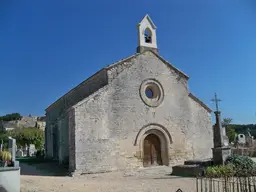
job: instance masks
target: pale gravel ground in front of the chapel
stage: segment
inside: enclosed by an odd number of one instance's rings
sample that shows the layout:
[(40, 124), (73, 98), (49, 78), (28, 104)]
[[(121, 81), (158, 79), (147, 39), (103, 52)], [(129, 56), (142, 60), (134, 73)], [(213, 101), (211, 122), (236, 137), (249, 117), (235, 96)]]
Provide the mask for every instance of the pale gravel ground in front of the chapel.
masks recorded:
[(21, 192), (176, 192), (179, 188), (183, 192), (196, 191), (195, 179), (168, 176), (166, 172), (168, 168), (163, 167), (79, 177), (22, 175)]

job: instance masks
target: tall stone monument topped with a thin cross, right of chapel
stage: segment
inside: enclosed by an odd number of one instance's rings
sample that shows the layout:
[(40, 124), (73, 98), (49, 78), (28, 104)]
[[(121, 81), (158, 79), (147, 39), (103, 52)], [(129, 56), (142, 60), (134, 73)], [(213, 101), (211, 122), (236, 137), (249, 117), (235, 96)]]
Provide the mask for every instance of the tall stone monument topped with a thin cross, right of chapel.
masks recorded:
[(217, 94), (215, 93), (215, 98), (212, 100), (216, 104), (216, 124), (213, 126), (213, 142), (214, 148), (212, 148), (213, 152), (213, 162), (216, 165), (223, 165), (227, 158), (231, 156), (231, 148), (229, 146), (225, 146), (224, 143), (224, 135), (223, 128), (221, 123), (221, 112), (219, 111), (218, 102), (221, 101), (217, 98)]

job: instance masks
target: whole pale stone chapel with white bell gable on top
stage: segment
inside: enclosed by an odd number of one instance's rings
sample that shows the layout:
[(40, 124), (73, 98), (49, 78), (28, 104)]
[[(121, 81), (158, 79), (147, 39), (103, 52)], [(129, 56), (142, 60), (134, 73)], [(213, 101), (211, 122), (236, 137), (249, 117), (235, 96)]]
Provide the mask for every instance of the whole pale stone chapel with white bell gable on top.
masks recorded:
[(148, 15), (137, 30), (134, 55), (101, 69), (46, 109), (46, 157), (73, 173), (212, 156), (211, 109), (190, 93), (189, 77), (159, 55)]

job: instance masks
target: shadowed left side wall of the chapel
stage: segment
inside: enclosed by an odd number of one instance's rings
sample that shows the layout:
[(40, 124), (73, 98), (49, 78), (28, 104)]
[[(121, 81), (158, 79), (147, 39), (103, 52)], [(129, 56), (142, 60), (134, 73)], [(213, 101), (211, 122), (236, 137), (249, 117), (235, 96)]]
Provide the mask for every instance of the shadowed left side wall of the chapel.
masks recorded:
[[(101, 87), (104, 87), (108, 82), (106, 71), (103, 69), (90, 77), (87, 81), (82, 82), (80, 85), (75, 87), (73, 90), (68, 92), (62, 98), (57, 100), (52, 106), (46, 109), (46, 128), (45, 136), (47, 143), (46, 156), (48, 158), (53, 157), (53, 132), (58, 134), (57, 144), (58, 148), (57, 157), (60, 162), (65, 162), (68, 159), (68, 145), (69, 145), (69, 122), (67, 109), (75, 103), (79, 102), (83, 98), (97, 91)], [(54, 130), (57, 129), (57, 130)]]

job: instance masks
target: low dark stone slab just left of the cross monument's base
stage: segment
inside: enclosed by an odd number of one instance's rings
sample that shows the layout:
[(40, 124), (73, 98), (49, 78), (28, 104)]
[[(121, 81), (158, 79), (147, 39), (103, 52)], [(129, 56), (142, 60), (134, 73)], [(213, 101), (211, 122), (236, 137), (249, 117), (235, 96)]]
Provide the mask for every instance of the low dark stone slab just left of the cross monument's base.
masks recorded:
[(177, 165), (172, 167), (172, 175), (182, 177), (196, 177), (203, 174), (204, 168), (200, 165)]

